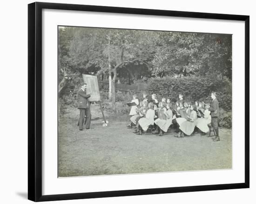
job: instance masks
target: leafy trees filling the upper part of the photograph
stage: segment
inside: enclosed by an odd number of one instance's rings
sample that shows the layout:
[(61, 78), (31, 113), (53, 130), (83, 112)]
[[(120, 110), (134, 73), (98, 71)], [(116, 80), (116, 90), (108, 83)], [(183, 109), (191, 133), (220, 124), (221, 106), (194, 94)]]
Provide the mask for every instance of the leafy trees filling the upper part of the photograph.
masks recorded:
[(184, 81), (192, 76), (188, 83), (182, 82), (184, 92), (190, 90), (192, 82), (200, 88), (209, 76), (215, 80), (209, 83), (215, 85), (223, 79), (232, 80), (230, 34), (59, 27), (58, 45), (60, 81), (65, 72), (99, 75), (109, 79), (114, 95), (118, 79), (133, 83), (143, 78), (165, 81), (178, 76)]

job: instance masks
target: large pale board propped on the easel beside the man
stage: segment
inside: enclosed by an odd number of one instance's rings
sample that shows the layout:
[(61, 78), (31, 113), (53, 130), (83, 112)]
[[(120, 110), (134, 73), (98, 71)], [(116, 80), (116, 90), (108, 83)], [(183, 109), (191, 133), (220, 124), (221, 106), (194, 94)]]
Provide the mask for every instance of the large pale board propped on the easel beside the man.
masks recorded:
[(100, 94), (97, 76), (83, 74), (83, 80), (85, 83), (87, 83), (86, 92), (91, 94), (91, 97), (88, 98), (88, 100), (100, 101), (101, 94)]

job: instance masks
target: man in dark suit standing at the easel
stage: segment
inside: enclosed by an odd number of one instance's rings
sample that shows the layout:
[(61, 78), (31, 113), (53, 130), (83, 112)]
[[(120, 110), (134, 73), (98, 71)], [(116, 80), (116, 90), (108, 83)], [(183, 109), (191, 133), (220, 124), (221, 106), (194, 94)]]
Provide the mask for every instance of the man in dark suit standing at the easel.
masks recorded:
[(90, 122), (91, 122), (91, 112), (88, 108), (88, 98), (91, 96), (90, 94), (86, 94), (86, 87), (87, 84), (84, 83), (81, 87), (81, 89), (77, 92), (77, 108), (80, 110), (80, 117), (79, 117), (79, 130), (83, 130), (83, 124), (84, 124), (84, 117), (87, 117), (86, 120), (86, 129), (90, 128)]

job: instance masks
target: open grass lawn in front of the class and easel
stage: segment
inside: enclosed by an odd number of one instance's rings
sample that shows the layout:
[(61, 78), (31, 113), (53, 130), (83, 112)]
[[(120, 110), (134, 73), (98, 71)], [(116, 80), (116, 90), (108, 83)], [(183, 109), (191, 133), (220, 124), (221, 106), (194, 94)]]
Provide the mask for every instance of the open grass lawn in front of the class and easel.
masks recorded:
[[(92, 105), (92, 118), (102, 117)], [(220, 142), (200, 134), (136, 135), (127, 129), (128, 116), (105, 113), (109, 124), (93, 120), (92, 129), (79, 131), (79, 110), (68, 108), (59, 118), (59, 177), (196, 171), (232, 168), (231, 129), (219, 130)]]

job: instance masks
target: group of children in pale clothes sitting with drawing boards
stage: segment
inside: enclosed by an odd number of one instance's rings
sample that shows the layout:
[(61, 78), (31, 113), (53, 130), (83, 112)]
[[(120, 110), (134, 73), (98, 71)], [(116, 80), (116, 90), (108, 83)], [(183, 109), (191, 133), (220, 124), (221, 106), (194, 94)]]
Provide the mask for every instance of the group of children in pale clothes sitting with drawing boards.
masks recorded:
[(135, 126), (136, 134), (141, 135), (150, 125), (153, 125), (155, 131), (152, 133), (162, 136), (172, 124), (178, 133), (175, 135), (177, 138), (192, 135), (195, 129), (198, 129), (202, 135), (209, 131), (208, 124), (211, 122), (209, 104), (198, 101), (195, 101), (195, 104), (185, 102), (182, 94), (179, 95), (176, 103), (165, 98), (158, 103), (155, 94), (148, 99), (146, 93), (143, 94), (143, 100), (140, 103), (136, 94), (133, 95), (131, 102), (135, 104), (131, 106), (131, 124), (127, 127)]

